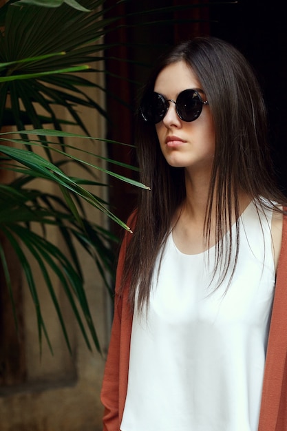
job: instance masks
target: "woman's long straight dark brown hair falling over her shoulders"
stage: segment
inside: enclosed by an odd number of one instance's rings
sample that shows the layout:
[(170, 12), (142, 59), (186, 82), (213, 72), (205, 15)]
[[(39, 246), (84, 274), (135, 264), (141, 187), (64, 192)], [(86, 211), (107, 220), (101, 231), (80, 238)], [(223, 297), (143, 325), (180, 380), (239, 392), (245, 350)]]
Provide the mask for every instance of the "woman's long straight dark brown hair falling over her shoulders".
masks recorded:
[[(285, 200), (273, 179), (266, 108), (257, 78), (244, 56), (229, 43), (213, 37), (198, 37), (173, 48), (151, 74), (142, 97), (153, 92), (160, 71), (178, 61), (186, 62), (198, 77), (215, 124), (215, 157), (206, 204), (204, 242), (208, 247), (211, 213), (215, 210), (214, 273), (220, 268), (221, 280), (224, 280), (231, 265), (233, 244), (233, 272), (237, 262), (240, 191), (255, 200), (258, 207), (273, 208), (274, 201), (284, 204)], [(149, 185), (151, 191), (140, 191), (138, 197), (136, 227), (127, 246), (122, 288), (128, 281), (131, 307), (138, 288), (138, 308), (142, 309), (149, 303), (156, 257), (171, 231), (173, 215), (185, 198), (185, 185), (184, 169), (167, 164), (155, 126), (145, 123), (139, 112), (136, 146), (140, 180)], [(235, 211), (237, 220), (235, 239), (231, 233), (232, 211)], [(220, 240), (225, 232), (229, 233), (227, 254)]]

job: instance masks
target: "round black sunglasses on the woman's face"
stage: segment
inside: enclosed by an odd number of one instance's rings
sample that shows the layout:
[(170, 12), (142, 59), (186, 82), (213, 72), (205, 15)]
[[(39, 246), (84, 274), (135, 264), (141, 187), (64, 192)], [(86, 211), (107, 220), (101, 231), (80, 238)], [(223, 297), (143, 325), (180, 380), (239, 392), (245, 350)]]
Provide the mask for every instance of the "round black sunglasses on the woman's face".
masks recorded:
[(153, 92), (142, 99), (140, 113), (145, 121), (153, 124), (160, 123), (167, 114), (170, 102), (176, 105), (176, 113), (180, 119), (189, 123), (200, 116), (203, 105), (209, 105), (208, 101), (202, 101), (197, 90), (180, 92), (176, 101), (166, 99), (162, 94)]

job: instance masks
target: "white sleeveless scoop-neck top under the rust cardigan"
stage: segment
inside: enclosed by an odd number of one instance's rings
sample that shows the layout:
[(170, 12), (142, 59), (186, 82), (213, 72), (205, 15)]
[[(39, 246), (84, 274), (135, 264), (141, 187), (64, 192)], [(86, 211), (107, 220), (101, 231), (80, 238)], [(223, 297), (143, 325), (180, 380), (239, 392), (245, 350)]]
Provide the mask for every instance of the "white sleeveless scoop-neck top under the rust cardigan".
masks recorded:
[(240, 218), (227, 291), (228, 275), (209, 285), (208, 252), (185, 255), (169, 235), (147, 316), (134, 312), (121, 431), (257, 431), (275, 286), (265, 214), (252, 202)]

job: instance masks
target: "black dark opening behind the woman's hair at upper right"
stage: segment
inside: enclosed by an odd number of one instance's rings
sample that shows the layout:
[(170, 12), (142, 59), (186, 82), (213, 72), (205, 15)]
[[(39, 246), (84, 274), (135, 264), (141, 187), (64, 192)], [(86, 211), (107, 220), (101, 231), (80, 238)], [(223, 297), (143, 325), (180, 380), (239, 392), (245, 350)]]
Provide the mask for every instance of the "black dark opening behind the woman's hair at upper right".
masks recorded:
[(283, 1), (214, 5), (211, 34), (233, 43), (255, 68), (268, 109), (278, 184), (287, 195), (287, 10)]

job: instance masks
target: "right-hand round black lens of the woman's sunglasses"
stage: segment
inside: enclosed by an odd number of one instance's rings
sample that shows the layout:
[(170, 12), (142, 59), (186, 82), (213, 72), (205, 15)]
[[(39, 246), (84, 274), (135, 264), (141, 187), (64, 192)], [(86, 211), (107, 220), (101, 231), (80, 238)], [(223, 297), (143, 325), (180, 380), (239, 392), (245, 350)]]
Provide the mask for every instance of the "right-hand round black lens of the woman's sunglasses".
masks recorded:
[(195, 90), (184, 90), (176, 100), (178, 116), (184, 121), (194, 121), (202, 112), (202, 99)]

